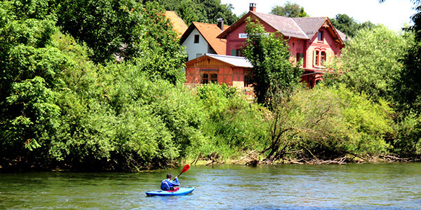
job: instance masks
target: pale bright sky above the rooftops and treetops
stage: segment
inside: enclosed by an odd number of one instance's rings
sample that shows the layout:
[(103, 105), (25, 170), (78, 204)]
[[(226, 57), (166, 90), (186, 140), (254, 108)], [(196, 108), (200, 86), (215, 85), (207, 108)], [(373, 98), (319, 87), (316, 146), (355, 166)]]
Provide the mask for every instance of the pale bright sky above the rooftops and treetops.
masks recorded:
[[(222, 3), (231, 3), (236, 15), (248, 11), (249, 3), (256, 3), (256, 11), (270, 13), (274, 6), (283, 6), (286, 0), (221, 0)], [(304, 7), (310, 17), (335, 18), (340, 14), (347, 14), (357, 22), (370, 21), (382, 24), (400, 31), (404, 24), (413, 25), (410, 16), (415, 13), (414, 4), (410, 0), (290, 0)]]

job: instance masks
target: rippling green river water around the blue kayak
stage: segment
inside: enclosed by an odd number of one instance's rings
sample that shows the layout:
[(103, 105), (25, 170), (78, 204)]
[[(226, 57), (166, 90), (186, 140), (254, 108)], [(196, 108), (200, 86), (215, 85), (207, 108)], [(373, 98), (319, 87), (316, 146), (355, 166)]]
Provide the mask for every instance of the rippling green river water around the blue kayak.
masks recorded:
[(192, 194), (145, 195), (181, 169), (0, 174), (0, 209), (421, 209), (421, 163), (192, 165)]

